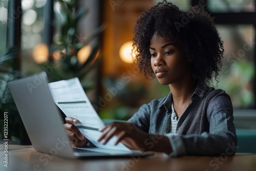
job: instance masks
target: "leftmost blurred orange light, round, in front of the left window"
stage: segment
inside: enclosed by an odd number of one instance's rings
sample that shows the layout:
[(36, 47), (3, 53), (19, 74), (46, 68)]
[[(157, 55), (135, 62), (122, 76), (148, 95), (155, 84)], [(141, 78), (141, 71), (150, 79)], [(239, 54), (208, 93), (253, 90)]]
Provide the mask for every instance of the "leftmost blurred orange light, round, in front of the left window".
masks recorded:
[(42, 63), (47, 61), (49, 56), (48, 47), (45, 44), (39, 44), (33, 51), (33, 58), (36, 63)]

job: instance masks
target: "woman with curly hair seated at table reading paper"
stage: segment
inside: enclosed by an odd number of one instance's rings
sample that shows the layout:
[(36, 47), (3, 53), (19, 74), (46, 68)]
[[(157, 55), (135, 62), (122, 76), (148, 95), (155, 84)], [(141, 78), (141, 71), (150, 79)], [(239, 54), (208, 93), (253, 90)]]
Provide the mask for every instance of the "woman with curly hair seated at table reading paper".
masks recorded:
[[(144, 11), (134, 27), (136, 63), (146, 77), (157, 77), (170, 93), (140, 107), (127, 122), (103, 127), (98, 141), (113, 136), (131, 149), (169, 156), (233, 155), (237, 136), (230, 97), (209, 88), (217, 80), (223, 42), (213, 19), (200, 7), (181, 11), (159, 3)], [(74, 123), (64, 127), (74, 147), (90, 145)]]

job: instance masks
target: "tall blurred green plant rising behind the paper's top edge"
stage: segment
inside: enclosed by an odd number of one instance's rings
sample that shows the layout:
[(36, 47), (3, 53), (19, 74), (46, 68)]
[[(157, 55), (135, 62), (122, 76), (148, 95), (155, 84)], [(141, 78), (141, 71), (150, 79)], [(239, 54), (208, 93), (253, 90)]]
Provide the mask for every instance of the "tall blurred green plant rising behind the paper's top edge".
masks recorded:
[(40, 63), (40, 67), (48, 71), (49, 81), (57, 81), (78, 77), (84, 90), (90, 89), (93, 77), (89, 77), (89, 72), (97, 65), (98, 44), (94, 45), (86, 61), (78, 61), (78, 52), (96, 38), (103, 30), (104, 25), (96, 28), (86, 39), (77, 38), (77, 25), (79, 20), (89, 12), (86, 8), (75, 11), (78, 1), (64, 2), (59, 0), (61, 15), (64, 22), (61, 23), (58, 40), (49, 48), (52, 61)]

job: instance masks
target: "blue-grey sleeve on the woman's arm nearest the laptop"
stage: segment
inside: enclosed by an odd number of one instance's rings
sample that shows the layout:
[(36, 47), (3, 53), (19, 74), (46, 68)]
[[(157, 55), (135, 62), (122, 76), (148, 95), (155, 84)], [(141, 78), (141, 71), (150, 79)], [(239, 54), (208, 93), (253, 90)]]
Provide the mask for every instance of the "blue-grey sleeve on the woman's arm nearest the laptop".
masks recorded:
[(150, 128), (150, 104), (143, 104), (127, 122), (133, 123), (140, 130), (148, 133)]

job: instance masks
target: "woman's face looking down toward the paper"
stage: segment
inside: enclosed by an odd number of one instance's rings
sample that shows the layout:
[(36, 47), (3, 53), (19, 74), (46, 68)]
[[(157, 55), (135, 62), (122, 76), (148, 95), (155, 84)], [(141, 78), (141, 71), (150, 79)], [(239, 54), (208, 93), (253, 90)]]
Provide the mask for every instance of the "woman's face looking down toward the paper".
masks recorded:
[(150, 41), (150, 54), (152, 70), (161, 84), (180, 82), (190, 76), (189, 59), (177, 41), (167, 41), (154, 34)]

